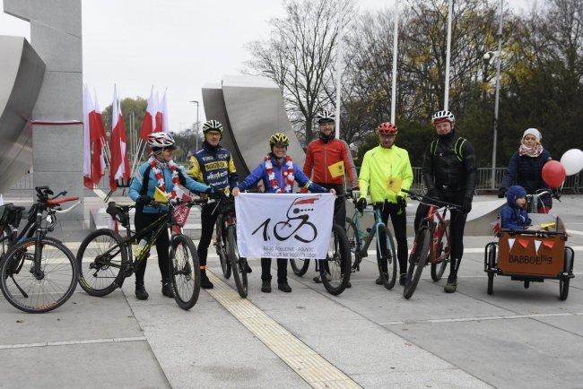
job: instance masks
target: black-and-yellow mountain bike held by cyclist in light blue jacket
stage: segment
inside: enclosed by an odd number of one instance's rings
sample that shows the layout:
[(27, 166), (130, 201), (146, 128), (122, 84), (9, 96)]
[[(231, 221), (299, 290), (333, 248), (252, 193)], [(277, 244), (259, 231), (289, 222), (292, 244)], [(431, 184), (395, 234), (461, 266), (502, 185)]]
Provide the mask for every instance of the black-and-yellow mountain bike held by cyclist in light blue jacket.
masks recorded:
[[(168, 210), (162, 212), (149, 226), (136, 232), (131, 230), (129, 223), (129, 211), (135, 205), (109, 203), (106, 212), (126, 228), (126, 238), (122, 238), (113, 229), (96, 229), (84, 238), (77, 251), (77, 264), (81, 272), (79, 285), (95, 297), (107, 296), (113, 290), (121, 288), (126, 278), (148, 258), (150, 249), (156, 244), (160, 234), (169, 233), (170, 229), (169, 276), (174, 299), (182, 309), (194, 307), (200, 293), (200, 265), (196, 246), (191, 238), (182, 233), (182, 226), (177, 222), (175, 212), (180, 205), (192, 207), (205, 202), (205, 199), (152, 202), (152, 206), (167, 205)], [(150, 233), (152, 235), (145, 246), (134, 254), (132, 244), (137, 244)]]

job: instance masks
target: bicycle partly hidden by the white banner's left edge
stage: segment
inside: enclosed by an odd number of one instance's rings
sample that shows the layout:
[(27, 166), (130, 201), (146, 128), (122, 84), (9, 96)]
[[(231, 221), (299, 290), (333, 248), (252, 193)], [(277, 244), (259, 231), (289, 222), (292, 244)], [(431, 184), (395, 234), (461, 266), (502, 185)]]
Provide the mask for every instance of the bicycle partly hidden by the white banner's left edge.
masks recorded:
[[(220, 199), (216, 205), (220, 209), (220, 214), (216, 221), (216, 246), (217, 254), (221, 261), (222, 273), (225, 278), (231, 277), (231, 270), (237, 291), (241, 298), (248, 295), (247, 281), (247, 258), (239, 256), (237, 246), (237, 219), (235, 216), (235, 199)], [(216, 208), (214, 210), (216, 212)]]

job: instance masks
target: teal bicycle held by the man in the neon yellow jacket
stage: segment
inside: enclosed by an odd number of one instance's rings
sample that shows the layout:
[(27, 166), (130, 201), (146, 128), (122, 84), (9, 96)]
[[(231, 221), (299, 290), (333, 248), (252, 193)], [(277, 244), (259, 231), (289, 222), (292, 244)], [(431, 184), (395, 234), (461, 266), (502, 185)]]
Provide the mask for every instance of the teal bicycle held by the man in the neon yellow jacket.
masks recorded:
[[(352, 192), (346, 194), (347, 198), (352, 198), (352, 203), (356, 206), (358, 202), (358, 195)], [(384, 203), (374, 203), (372, 211), (365, 209), (364, 212), (373, 213), (375, 222), (372, 227), (365, 231), (361, 229), (361, 218), (363, 214), (357, 209), (354, 210), (352, 218), (346, 218), (346, 235), (348, 236), (348, 243), (350, 246), (352, 264), (351, 271), (359, 272), (361, 270), (362, 258), (369, 256), (369, 246), (375, 236), (377, 238), (377, 265), (379, 267), (379, 275), (382, 275), (382, 261), (387, 261), (387, 277), (384, 282), (387, 290), (393, 289), (396, 282), (396, 250), (395, 240), (391, 231), (382, 221), (382, 210)]]

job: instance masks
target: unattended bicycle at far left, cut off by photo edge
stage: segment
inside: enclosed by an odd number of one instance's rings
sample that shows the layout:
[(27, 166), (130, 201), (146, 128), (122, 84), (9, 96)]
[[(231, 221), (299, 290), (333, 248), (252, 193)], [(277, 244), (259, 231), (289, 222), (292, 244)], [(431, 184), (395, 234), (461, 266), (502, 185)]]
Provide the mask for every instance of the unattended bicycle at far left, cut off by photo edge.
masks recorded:
[(75, 290), (78, 269), (74, 255), (63, 242), (47, 234), (55, 229), (57, 213), (70, 212), (80, 202), (62, 210), (62, 203), (79, 197), (61, 197), (65, 191), (53, 196), (48, 186), (37, 186), (35, 190), (38, 201), (30, 207), (27, 223), (20, 232), (25, 208), (4, 204), (0, 212), (3, 213), (0, 229), (5, 232), (4, 238), (0, 238), (0, 289), (13, 307), (39, 314), (62, 306)]

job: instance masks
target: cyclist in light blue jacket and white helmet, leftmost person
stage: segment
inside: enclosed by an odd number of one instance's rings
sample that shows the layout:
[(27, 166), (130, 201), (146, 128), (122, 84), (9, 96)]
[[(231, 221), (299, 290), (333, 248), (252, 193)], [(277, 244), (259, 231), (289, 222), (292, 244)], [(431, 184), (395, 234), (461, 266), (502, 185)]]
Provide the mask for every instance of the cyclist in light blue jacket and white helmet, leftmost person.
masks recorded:
[[(132, 179), (129, 188), (129, 196), (135, 201), (135, 230), (146, 228), (161, 213), (168, 212), (167, 206), (153, 207), (152, 203), (156, 187), (164, 193), (174, 192), (175, 184), (179, 183), (192, 192), (215, 195), (213, 186), (205, 186), (188, 177), (185, 170), (172, 160), (172, 151), (176, 149), (174, 139), (167, 133), (152, 133), (148, 136), (147, 144), (152, 148), (150, 158), (138, 168), (138, 176)], [(149, 237), (146, 237), (148, 239)], [(170, 285), (169, 276), (169, 248), (168, 234), (161, 234), (156, 239), (156, 252), (158, 253), (158, 265), (162, 277), (162, 294), (173, 298), (174, 293)], [(148, 298), (148, 292), (144, 288), (144, 273), (146, 260), (135, 269), (135, 297), (141, 300)]]

